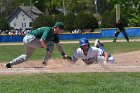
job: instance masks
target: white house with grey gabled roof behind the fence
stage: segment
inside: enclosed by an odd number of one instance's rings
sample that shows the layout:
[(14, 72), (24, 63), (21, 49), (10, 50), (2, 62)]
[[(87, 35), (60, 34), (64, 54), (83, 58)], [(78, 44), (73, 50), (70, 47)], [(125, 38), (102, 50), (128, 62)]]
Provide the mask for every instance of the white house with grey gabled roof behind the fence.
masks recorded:
[[(32, 13), (32, 14), (31, 14)], [(7, 19), (8, 24), (13, 29), (31, 29), (32, 22), (43, 13), (32, 6), (32, 12), (30, 6), (19, 6)]]

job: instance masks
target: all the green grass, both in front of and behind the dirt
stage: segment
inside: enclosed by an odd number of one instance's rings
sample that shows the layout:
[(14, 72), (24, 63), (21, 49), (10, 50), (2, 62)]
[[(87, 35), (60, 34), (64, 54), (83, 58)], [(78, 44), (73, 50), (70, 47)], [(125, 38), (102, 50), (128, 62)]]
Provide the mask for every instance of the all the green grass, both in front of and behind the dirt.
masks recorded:
[[(78, 44), (63, 44), (68, 55)], [(139, 42), (105, 43), (105, 49), (112, 53), (139, 51)], [(0, 61), (10, 61), (24, 52), (21, 45), (0, 46)], [(30, 60), (41, 60), (44, 49), (37, 49)], [(52, 58), (60, 58), (55, 49)], [(139, 72), (121, 73), (40, 73), (0, 75), (0, 93), (138, 93)]]

